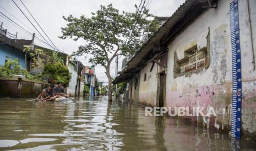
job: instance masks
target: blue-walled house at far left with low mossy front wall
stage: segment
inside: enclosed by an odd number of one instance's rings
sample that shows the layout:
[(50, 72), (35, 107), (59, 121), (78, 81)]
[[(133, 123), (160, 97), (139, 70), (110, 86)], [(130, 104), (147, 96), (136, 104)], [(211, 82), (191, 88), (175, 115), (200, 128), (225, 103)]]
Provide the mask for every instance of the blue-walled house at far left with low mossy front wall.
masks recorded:
[[(27, 46), (30, 47), (33, 41), (34, 37), (31, 40), (17, 39), (17, 33), (14, 37), (13, 34), (4, 30), (1, 25), (0, 65), (4, 65), (8, 60), (18, 59), (20, 66), (30, 71), (31, 56), (30, 53), (25, 53), (23, 50)], [(19, 75), (9, 78), (0, 77), (0, 97), (37, 97), (42, 89), (49, 85), (45, 82), (21, 77)]]

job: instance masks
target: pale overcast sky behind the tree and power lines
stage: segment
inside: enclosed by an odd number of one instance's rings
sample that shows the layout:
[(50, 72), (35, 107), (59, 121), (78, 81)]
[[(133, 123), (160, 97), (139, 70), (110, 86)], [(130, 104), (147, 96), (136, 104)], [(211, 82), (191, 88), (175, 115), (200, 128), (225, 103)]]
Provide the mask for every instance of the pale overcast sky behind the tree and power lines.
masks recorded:
[[(34, 15), (37, 22), (47, 33), (48, 37), (51, 38), (56, 47), (64, 53), (71, 54), (73, 51), (78, 49), (79, 45), (83, 45), (83, 40), (78, 40), (74, 42), (72, 39), (59, 39), (61, 36), (61, 27), (65, 27), (67, 22), (62, 19), (62, 16), (68, 16), (72, 14), (73, 16), (79, 17), (85, 15), (90, 18), (91, 12), (95, 12), (100, 9), (100, 5), (107, 5), (112, 3), (113, 7), (117, 8), (119, 11), (130, 11), (134, 12), (134, 4), (139, 5), (140, 0), (22, 0), (26, 7), (30, 10), (31, 14)], [(149, 0), (150, 13), (157, 16), (171, 16), (173, 12), (181, 5), (185, 0)], [(24, 13), (29, 17), (31, 21), (32, 18), (25, 10), (20, 0), (14, 0), (15, 3), (24, 11)], [(146, 0), (148, 2), (148, 0)], [(7, 11), (9, 12), (7, 12)], [(12, 2), (12, 0), (1, 0), (0, 1), (0, 12), (8, 16), (10, 19), (17, 22), (20, 26), (23, 26), (29, 32), (35, 32), (35, 28), (30, 24), (30, 22), (25, 18), (17, 6)], [(31, 39), (32, 36), (28, 33), (21, 31), (18, 27), (11, 24), (9, 21), (2, 17), (0, 14), (0, 21), (3, 22), (3, 27), (7, 28), (10, 33), (18, 32), (19, 39)], [(18, 19), (18, 20), (17, 20)], [(32, 22), (35, 26), (36, 23)], [(28, 26), (28, 27), (26, 27)], [(36, 26), (38, 30), (40, 28)], [(40, 31), (41, 32), (41, 31)], [(35, 32), (36, 33), (36, 32)], [(42, 32), (41, 32), (42, 33)], [(42, 33), (43, 34), (43, 33)], [(40, 37), (39, 33), (36, 33), (37, 37)], [(41, 37), (40, 37), (41, 38)], [(41, 38), (42, 39), (42, 38)], [(50, 48), (48, 45), (35, 40), (35, 44), (42, 47)], [(86, 56), (86, 59), (85, 59)], [(90, 66), (88, 60), (90, 55), (85, 55), (79, 57), (79, 60), (84, 63), (85, 66)], [(121, 70), (122, 57), (119, 60), (119, 71)], [(102, 82), (107, 82), (107, 77), (104, 73), (104, 67), (97, 65), (96, 76)], [(115, 62), (111, 65), (111, 74), (115, 75)]]

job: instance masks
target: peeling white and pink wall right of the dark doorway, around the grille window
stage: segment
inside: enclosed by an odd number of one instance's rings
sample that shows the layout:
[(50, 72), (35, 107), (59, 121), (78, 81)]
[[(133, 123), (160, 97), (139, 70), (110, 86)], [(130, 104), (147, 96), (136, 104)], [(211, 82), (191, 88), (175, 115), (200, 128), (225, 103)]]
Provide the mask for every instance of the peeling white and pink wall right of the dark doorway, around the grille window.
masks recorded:
[[(225, 109), (225, 114), (209, 119), (190, 118), (192, 121), (215, 127), (218, 130), (229, 129), (232, 92), (232, 61), (229, 7), (231, 1), (219, 1), (216, 9), (208, 9), (195, 19), (186, 29), (168, 45), (166, 104), (168, 107), (214, 107)], [(255, 3), (255, 1), (250, 1)], [(256, 72), (252, 65), (252, 44), (249, 42), (247, 1), (239, 1), (239, 26), (242, 52), (242, 133), (254, 135), (256, 107)], [(250, 4), (255, 24), (255, 8)], [(255, 41), (255, 26), (253, 26)], [(207, 41), (207, 36), (209, 42)], [(175, 76), (175, 55), (178, 60), (184, 58), (184, 51), (197, 46), (198, 51), (210, 49), (209, 67)], [(254, 50), (255, 51), (255, 50)]]

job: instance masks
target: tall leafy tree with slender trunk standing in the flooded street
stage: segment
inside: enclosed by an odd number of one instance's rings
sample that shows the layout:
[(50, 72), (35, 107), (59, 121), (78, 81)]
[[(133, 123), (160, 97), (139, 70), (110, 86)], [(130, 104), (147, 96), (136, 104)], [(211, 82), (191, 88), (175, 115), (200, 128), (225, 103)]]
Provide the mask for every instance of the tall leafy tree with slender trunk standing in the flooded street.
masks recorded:
[(112, 101), (112, 77), (110, 65), (118, 55), (128, 56), (134, 54), (141, 48), (141, 36), (143, 31), (155, 32), (159, 27), (156, 18), (149, 14), (145, 7), (138, 8), (135, 13), (119, 11), (113, 8), (112, 4), (107, 7), (101, 5), (100, 10), (91, 13), (91, 18), (75, 18), (72, 15), (63, 16), (68, 21), (67, 27), (62, 27), (62, 36), (59, 38), (73, 38), (73, 40), (84, 39), (85, 44), (81, 45), (73, 56), (91, 54), (89, 59), (94, 65), (104, 66), (108, 78), (108, 100)]

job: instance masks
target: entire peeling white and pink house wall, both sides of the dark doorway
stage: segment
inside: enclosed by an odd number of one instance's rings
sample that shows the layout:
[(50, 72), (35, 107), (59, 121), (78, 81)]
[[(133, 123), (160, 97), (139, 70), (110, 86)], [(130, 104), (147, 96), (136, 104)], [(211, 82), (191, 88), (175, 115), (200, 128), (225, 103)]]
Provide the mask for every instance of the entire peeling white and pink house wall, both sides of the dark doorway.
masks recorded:
[[(229, 131), (231, 126), (230, 2), (232, 1), (219, 0), (217, 8), (204, 11), (168, 44), (165, 106), (191, 109), (213, 107), (217, 112), (216, 117), (186, 118), (193, 123), (204, 125), (207, 129), (219, 131)], [(243, 95), (242, 137), (253, 140), (256, 140), (256, 71), (253, 66), (253, 54), (256, 54), (255, 6), (256, 1), (249, 0), (248, 10), (247, 1), (238, 0)], [(182, 60), (184, 51), (192, 47), (197, 47), (198, 51), (205, 51), (206, 48), (208, 63), (196, 71), (175, 75), (175, 61)], [(157, 106), (157, 75), (163, 72), (164, 68), (155, 65), (150, 72), (151, 65), (149, 62), (140, 73), (130, 79), (129, 100), (146, 106)], [(138, 75), (139, 90), (135, 91), (134, 79)]]

